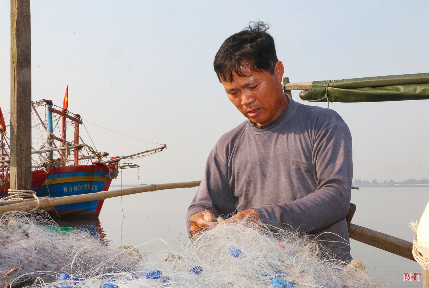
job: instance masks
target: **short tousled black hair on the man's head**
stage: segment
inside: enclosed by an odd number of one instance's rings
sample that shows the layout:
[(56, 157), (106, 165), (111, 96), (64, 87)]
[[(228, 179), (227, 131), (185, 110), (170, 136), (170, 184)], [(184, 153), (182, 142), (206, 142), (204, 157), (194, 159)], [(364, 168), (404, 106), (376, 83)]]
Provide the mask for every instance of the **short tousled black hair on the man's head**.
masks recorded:
[(268, 29), (268, 24), (250, 21), (248, 27), (222, 43), (213, 62), (219, 81), (231, 82), (233, 73), (248, 76), (243, 74), (243, 68), (250, 68), (255, 72), (265, 70), (274, 74), (278, 59), (274, 39), (266, 32)]

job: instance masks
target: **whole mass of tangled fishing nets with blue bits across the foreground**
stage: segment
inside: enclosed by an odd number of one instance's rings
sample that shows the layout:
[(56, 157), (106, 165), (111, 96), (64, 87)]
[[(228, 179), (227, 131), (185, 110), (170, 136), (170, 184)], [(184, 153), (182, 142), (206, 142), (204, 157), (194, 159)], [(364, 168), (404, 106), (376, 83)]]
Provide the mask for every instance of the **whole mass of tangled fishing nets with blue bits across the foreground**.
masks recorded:
[[(33, 288), (380, 287), (361, 267), (326, 258), (316, 242), (261, 223), (218, 225), (188, 244), (142, 257), (135, 247), (114, 250), (85, 231), (47, 232), (39, 220), (16, 212), (1, 218), (0, 248), (11, 247), (9, 253), (0, 252), (7, 259), (0, 264), (1, 283), (16, 287), (32, 280)], [(14, 267), (21, 275), (6, 275)]]

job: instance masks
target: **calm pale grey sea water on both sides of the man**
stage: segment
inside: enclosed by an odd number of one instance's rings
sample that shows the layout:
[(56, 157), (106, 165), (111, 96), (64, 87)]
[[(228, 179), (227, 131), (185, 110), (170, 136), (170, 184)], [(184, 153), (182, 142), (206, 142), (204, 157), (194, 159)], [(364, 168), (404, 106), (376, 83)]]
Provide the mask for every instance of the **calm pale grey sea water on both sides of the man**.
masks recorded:
[[(118, 189), (118, 188), (112, 188)], [(196, 188), (145, 192), (110, 198), (104, 203), (100, 225), (112, 246), (139, 246), (152, 252), (187, 243), (185, 214)], [(429, 187), (361, 188), (352, 191), (356, 213), (352, 223), (412, 242), (408, 226), (418, 220), (429, 201)], [(405, 272), (420, 273), (411, 261), (351, 240), (352, 256), (386, 287), (421, 287), (422, 281), (403, 281)]]

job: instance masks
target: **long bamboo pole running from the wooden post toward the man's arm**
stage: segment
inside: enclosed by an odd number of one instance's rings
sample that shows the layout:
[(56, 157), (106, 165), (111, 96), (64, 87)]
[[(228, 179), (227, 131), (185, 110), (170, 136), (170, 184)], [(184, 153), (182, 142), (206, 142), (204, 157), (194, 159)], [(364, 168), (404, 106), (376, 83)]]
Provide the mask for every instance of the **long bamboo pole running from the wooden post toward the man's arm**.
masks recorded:
[[(126, 188), (126, 189), (112, 190), (112, 191), (102, 191), (102, 192), (95, 192), (90, 194), (70, 195), (70, 196), (63, 196), (63, 197), (57, 197), (57, 198), (43, 198), (43, 199), (39, 199), (40, 201), (39, 208), (46, 208), (51, 206), (94, 201), (94, 200), (104, 200), (107, 198), (123, 196), (123, 195), (131, 195), (131, 194), (143, 193), (143, 192), (149, 192), (149, 191), (176, 189), (176, 188), (192, 188), (192, 187), (199, 186), (199, 183), (201, 183), (201, 181), (151, 184), (151, 185), (146, 185), (141, 187), (132, 187), (132, 188)], [(12, 211), (12, 210), (21, 210), (25, 208), (36, 208), (36, 207), (37, 207), (37, 201), (35, 200), (28, 201), (25, 203), (10, 204), (10, 205), (5, 205), (0, 207), (0, 214), (8, 211)]]

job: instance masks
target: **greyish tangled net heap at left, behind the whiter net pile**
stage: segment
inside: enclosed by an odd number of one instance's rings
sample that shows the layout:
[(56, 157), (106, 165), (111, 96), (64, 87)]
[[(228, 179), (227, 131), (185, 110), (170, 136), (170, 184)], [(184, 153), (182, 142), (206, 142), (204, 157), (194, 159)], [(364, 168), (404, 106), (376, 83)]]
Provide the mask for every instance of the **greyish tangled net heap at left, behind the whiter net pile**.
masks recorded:
[(118, 273), (140, 261), (135, 255), (109, 248), (94, 231), (64, 231), (43, 210), (0, 216), (0, 287), (12, 281), (33, 282), (38, 277), (52, 282), (60, 273), (75, 275), (90, 272), (92, 267), (98, 267), (97, 273)]

